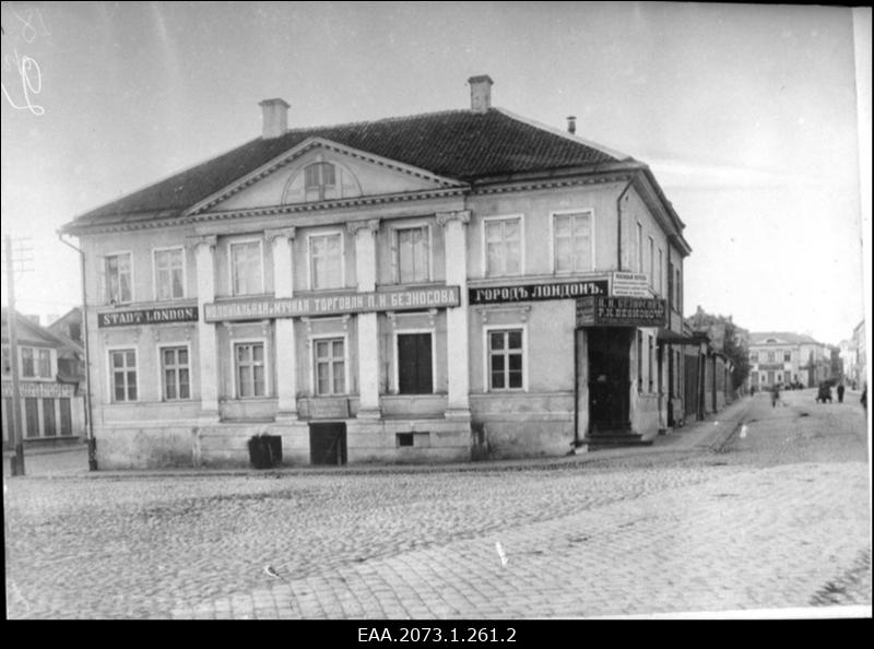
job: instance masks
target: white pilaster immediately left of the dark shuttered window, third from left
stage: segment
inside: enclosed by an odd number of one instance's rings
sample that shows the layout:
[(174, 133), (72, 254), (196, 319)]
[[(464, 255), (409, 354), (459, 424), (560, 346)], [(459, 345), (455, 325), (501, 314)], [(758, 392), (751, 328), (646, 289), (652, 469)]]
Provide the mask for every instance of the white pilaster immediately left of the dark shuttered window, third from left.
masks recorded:
[[(376, 290), (376, 233), (379, 220), (347, 225), (355, 236), (355, 273), (359, 292)], [(379, 334), (376, 314), (359, 314), (358, 320), (358, 417), (379, 416)]]

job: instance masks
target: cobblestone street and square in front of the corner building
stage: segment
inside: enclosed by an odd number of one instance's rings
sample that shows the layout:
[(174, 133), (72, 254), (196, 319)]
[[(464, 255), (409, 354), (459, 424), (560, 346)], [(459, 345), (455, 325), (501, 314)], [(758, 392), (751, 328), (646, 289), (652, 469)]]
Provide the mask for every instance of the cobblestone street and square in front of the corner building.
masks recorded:
[(788, 394), (781, 409), (765, 398), (732, 406), (746, 429), (721, 452), (684, 441), (706, 439), (716, 424), (702, 422), (651, 452), (579, 461), (9, 480), (8, 616), (435, 620), (870, 606), (861, 409), (807, 408), (804, 397)]

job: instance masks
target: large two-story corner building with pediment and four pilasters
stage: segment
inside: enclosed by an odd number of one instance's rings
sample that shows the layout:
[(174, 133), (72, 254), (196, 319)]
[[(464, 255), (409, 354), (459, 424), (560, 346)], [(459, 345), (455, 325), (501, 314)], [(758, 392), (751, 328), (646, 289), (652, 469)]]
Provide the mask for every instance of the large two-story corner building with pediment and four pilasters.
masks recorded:
[[(683, 411), (683, 223), (650, 169), (471, 106), (288, 128), (76, 217), (102, 468), (646, 442)], [(99, 296), (99, 298), (97, 297)]]

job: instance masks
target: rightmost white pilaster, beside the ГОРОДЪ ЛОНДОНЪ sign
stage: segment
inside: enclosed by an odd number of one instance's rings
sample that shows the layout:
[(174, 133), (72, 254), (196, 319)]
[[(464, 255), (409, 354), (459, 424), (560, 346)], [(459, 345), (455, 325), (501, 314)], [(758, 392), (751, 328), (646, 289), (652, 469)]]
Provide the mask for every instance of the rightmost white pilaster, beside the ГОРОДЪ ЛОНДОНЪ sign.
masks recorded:
[(459, 286), (458, 307), (446, 309), (446, 352), (449, 394), (447, 418), (470, 417), (470, 363), (468, 333), (468, 232), (469, 210), (438, 212), (437, 223), (446, 228), (446, 283)]

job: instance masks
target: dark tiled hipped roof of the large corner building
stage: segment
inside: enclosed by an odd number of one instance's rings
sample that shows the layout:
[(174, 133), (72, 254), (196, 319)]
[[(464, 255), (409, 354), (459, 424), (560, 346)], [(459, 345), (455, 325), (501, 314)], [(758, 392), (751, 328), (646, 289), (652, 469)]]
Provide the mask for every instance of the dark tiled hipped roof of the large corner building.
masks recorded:
[(311, 138), (323, 138), (465, 182), (527, 172), (634, 162), (500, 109), (447, 110), (293, 129), (279, 138), (258, 138), (82, 214), (63, 229), (122, 214), (178, 214)]

